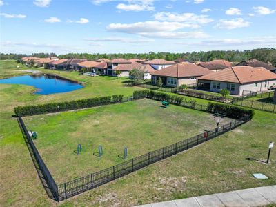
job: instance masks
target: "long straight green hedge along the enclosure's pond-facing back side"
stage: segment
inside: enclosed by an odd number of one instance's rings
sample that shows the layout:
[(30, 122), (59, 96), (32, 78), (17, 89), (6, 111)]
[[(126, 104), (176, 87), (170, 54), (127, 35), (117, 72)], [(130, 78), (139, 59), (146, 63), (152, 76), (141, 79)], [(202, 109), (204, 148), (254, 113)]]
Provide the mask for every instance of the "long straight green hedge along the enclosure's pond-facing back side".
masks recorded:
[[(113, 102), (123, 101), (123, 95), (113, 96)], [(111, 97), (98, 97), (92, 99), (81, 99), (76, 101), (68, 101), (61, 103), (47, 103), (36, 106), (18, 106), (14, 108), (17, 117), (46, 114), (50, 112), (61, 112), (66, 110), (76, 110), (81, 108), (89, 108), (93, 106), (108, 105), (111, 103)]]

